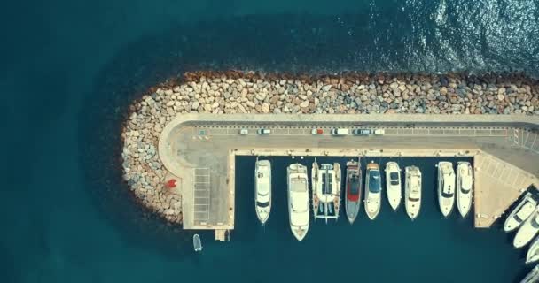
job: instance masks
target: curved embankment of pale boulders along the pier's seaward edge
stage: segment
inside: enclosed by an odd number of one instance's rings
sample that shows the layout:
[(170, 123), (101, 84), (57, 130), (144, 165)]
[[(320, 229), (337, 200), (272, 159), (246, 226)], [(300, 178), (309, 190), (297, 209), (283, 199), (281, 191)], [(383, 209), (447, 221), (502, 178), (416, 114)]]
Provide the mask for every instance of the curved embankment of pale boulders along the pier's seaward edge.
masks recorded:
[(425, 113), (539, 115), (539, 82), (519, 75), (286, 77), (186, 73), (134, 102), (122, 138), (124, 179), (146, 207), (182, 222), (181, 195), (167, 183), (158, 139), (180, 113)]

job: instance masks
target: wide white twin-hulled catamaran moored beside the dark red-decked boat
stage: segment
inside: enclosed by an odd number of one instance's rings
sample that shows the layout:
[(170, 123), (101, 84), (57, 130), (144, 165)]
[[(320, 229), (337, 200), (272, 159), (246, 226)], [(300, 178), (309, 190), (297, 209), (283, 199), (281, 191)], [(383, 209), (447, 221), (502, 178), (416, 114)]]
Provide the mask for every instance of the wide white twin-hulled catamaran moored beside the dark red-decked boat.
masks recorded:
[(339, 218), (340, 208), (340, 164), (313, 163), (311, 171), (313, 213), (316, 218)]

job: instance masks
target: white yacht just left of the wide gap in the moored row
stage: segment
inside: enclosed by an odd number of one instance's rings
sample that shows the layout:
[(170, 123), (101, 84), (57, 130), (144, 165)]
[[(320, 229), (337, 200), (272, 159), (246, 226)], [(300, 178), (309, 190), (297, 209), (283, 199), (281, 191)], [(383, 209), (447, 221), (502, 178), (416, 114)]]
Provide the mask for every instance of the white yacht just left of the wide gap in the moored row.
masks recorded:
[(413, 220), (421, 209), (421, 171), (416, 166), (404, 168), (404, 205), (406, 213)]

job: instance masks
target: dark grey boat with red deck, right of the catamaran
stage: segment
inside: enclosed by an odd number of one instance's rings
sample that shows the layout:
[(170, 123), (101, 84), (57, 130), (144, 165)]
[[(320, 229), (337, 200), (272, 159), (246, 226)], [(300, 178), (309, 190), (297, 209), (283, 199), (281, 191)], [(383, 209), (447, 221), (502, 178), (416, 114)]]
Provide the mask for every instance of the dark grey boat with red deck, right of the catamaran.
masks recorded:
[(345, 203), (347, 218), (350, 224), (354, 223), (357, 213), (361, 209), (361, 185), (362, 173), (359, 158), (357, 161), (350, 160), (347, 162), (347, 180)]

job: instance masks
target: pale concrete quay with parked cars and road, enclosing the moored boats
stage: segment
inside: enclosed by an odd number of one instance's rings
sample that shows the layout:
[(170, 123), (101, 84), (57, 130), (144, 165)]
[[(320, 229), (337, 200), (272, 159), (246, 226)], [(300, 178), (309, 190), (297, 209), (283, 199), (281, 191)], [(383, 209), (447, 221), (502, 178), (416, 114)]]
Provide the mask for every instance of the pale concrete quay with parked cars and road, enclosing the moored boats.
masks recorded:
[[(538, 127), (523, 115), (180, 114), (159, 136), (161, 181), (176, 181), (184, 229), (215, 230), (225, 241), (236, 157), (473, 157), (474, 226), (486, 228), (539, 187)], [(333, 128), (384, 133), (334, 136)]]

